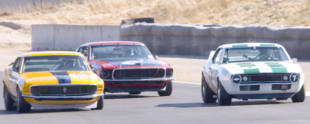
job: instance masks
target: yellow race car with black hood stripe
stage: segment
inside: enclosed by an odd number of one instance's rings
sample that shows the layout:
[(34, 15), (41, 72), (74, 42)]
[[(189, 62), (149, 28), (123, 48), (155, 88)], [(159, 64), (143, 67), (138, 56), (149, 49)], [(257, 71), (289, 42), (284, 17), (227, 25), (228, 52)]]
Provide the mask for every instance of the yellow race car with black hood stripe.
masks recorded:
[(104, 82), (80, 53), (27, 53), (10, 65), (3, 75), (6, 110), (103, 109)]

